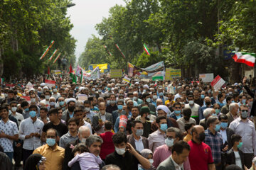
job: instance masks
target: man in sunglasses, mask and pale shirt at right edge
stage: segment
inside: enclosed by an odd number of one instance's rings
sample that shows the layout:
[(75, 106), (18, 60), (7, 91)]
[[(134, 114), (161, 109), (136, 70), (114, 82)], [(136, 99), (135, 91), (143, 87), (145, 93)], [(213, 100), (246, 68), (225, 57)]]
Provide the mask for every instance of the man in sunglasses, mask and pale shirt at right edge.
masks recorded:
[(245, 166), (250, 167), (256, 155), (255, 125), (248, 119), (248, 106), (240, 106), (240, 117), (230, 123), (229, 128), (242, 137), (241, 151), (245, 154)]

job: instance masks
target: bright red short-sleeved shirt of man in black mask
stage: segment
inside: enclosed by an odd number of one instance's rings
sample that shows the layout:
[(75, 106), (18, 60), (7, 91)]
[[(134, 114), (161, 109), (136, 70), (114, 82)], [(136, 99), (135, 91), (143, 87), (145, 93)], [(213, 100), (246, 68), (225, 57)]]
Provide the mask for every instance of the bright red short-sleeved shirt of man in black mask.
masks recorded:
[(208, 164), (214, 163), (210, 147), (204, 142), (197, 144), (193, 140), (189, 141), (188, 145), (191, 147), (188, 156), (191, 170), (208, 170)]

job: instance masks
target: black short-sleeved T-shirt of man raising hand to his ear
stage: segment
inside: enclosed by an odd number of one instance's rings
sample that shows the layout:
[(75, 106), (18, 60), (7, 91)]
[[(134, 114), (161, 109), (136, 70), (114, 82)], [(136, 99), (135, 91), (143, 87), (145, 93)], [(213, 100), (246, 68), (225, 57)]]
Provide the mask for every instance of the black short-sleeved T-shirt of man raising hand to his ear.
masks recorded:
[(134, 157), (134, 155), (131, 154), (129, 151), (125, 152), (124, 157), (114, 151), (112, 154), (107, 155), (105, 163), (106, 165), (115, 164), (119, 166), (119, 168), (122, 170), (137, 170), (139, 160)]

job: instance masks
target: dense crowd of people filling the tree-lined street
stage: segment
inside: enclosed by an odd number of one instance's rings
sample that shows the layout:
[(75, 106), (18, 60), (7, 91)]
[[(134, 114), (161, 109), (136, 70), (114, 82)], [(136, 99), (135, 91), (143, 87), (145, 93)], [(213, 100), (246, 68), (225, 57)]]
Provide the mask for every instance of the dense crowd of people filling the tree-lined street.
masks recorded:
[(0, 169), (256, 170), (248, 82), (214, 89), (103, 77), (2, 86)]

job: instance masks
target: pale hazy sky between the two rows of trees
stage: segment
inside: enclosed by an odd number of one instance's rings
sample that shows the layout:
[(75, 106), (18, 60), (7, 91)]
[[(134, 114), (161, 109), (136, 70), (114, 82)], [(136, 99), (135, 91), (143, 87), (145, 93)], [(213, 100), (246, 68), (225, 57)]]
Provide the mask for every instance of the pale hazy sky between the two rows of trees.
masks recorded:
[(125, 5), (123, 0), (73, 0), (75, 6), (68, 8), (73, 29), (71, 35), (77, 40), (75, 56), (78, 57), (85, 49), (86, 42), (92, 34), (97, 35), (95, 26), (103, 17), (109, 16), (109, 11), (115, 4)]

